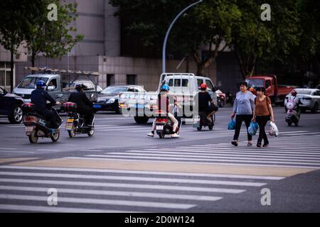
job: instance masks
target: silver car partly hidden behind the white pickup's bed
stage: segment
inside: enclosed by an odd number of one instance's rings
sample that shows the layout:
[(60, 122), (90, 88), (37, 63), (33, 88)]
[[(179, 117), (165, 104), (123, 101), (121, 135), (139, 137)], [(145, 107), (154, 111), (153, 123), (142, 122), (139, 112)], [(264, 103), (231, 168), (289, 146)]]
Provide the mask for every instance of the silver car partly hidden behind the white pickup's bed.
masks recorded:
[(143, 87), (137, 85), (112, 85), (103, 89), (98, 98), (95, 108), (101, 111), (115, 111), (120, 114), (119, 94), (120, 92), (146, 92)]

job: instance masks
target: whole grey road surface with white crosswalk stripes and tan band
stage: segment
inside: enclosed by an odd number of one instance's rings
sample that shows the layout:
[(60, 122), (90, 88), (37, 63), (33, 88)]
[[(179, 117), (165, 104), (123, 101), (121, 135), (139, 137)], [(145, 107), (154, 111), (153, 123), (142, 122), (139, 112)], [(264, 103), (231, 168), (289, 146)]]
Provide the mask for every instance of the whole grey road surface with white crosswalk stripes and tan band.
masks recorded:
[[(148, 138), (151, 120), (138, 125), (99, 112), (93, 137), (69, 138), (63, 123), (57, 143), (37, 144), (23, 124), (0, 118), (0, 210), (319, 212), (320, 114), (307, 111), (289, 127), (284, 107), (274, 107), (279, 137), (257, 148), (257, 135), (247, 147), (245, 126), (239, 146), (230, 144), (231, 111), (219, 109), (213, 131), (187, 120), (175, 139)], [(56, 189), (56, 205), (48, 204), (48, 189)]]

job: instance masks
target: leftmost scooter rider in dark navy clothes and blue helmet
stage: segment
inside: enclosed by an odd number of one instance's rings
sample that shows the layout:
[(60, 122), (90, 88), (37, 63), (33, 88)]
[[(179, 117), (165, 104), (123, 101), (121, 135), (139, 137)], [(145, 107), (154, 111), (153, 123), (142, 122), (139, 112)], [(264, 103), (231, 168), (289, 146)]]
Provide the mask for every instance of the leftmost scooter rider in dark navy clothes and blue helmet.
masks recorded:
[(50, 123), (50, 128), (58, 128), (56, 119), (56, 113), (47, 109), (47, 101), (51, 104), (59, 105), (60, 102), (55, 101), (53, 97), (45, 90), (46, 83), (43, 80), (39, 80), (36, 83), (36, 89), (31, 92), (31, 103), (36, 107), (38, 114), (41, 114), (46, 118), (46, 122)]

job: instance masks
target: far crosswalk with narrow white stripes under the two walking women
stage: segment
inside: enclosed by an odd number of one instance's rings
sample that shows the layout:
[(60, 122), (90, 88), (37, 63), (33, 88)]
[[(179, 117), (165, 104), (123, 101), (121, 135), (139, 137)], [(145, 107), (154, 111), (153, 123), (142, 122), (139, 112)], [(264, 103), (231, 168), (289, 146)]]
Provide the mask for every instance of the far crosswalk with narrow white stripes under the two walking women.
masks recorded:
[[(132, 160), (153, 162), (188, 162), (219, 165), (251, 165), (320, 168), (320, 135), (271, 138), (268, 148), (248, 147), (240, 142), (178, 146), (176, 148), (143, 148), (84, 155), (87, 160)], [(74, 158), (74, 157), (66, 157)]]

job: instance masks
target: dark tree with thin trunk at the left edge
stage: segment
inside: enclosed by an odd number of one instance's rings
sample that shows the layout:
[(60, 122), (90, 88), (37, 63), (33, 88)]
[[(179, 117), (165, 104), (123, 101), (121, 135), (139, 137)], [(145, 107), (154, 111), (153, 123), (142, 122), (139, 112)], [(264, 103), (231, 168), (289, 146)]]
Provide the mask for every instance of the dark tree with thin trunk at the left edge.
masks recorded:
[(14, 88), (14, 53), (28, 33), (29, 26), (36, 23), (41, 0), (0, 1), (0, 44), (11, 52), (11, 91)]

